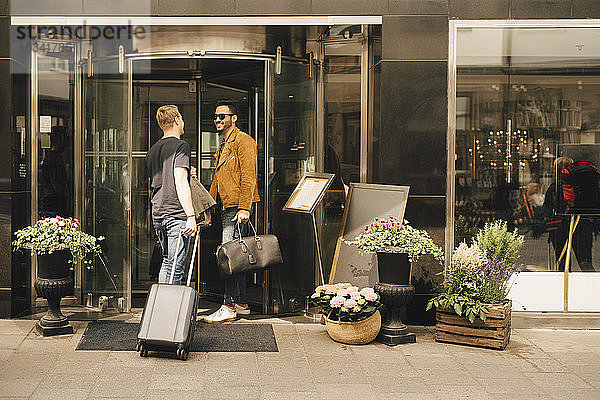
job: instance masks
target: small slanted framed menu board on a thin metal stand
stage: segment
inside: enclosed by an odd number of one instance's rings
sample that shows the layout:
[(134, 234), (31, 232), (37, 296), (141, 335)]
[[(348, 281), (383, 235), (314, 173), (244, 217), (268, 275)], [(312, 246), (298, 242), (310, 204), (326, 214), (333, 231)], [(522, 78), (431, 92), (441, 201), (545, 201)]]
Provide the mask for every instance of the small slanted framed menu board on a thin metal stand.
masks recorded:
[(312, 214), (323, 196), (325, 196), (325, 192), (333, 182), (334, 176), (334, 174), (318, 172), (306, 173), (296, 185), (282, 210)]

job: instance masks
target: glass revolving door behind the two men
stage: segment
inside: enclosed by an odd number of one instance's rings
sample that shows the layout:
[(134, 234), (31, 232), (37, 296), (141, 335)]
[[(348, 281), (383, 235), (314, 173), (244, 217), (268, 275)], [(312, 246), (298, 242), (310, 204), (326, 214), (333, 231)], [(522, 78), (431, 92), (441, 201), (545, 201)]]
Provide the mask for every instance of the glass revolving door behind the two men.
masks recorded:
[[(185, 120), (182, 137), (208, 187), (218, 147), (215, 101), (234, 100), (238, 126), (258, 145), (259, 232), (279, 237), (284, 265), (247, 277), (251, 306), (263, 313), (302, 309), (315, 284), (312, 227), (281, 208), (304, 172), (315, 171), (316, 66), (306, 60), (250, 53), (120, 54), (80, 63), (82, 88), (82, 206), (86, 231), (106, 237), (106, 265), (96, 260), (81, 274), (82, 293), (125, 297), (143, 306), (155, 245), (144, 158), (161, 137), (158, 107), (175, 104)], [(194, 280), (204, 295), (222, 296), (214, 252), (220, 221), (201, 233)], [(114, 300), (116, 301), (116, 300)], [(111, 304), (112, 305), (112, 304)]]

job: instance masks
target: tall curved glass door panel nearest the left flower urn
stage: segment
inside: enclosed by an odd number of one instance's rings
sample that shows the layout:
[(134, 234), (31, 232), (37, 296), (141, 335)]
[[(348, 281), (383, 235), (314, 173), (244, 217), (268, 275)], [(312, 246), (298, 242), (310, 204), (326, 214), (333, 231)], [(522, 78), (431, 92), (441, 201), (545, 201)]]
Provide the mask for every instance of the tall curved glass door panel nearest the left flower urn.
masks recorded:
[[(84, 215), (86, 232), (104, 236), (103, 257), (84, 271), (84, 293), (109, 296), (110, 306), (124, 296), (129, 271), (131, 183), (127, 137), (127, 74), (118, 60), (84, 65)], [(91, 76), (90, 76), (91, 75)]]

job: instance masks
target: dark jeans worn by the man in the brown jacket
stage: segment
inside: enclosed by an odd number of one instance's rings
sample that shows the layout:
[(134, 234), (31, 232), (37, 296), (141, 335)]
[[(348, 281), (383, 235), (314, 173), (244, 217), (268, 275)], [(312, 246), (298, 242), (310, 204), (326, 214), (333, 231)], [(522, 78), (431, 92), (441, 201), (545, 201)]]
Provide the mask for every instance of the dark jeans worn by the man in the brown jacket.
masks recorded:
[[(221, 223), (223, 225), (221, 243), (227, 243), (231, 242), (232, 240), (239, 239), (239, 233), (235, 226), (235, 222), (232, 221), (237, 212), (237, 207), (229, 207), (221, 210)], [(252, 215), (252, 209), (250, 210), (250, 215)], [(242, 237), (248, 236), (248, 228), (248, 224), (240, 225)], [(225, 277), (225, 295), (223, 296), (223, 304), (229, 307), (234, 307), (236, 303), (248, 304), (248, 300), (246, 298), (246, 274)]]

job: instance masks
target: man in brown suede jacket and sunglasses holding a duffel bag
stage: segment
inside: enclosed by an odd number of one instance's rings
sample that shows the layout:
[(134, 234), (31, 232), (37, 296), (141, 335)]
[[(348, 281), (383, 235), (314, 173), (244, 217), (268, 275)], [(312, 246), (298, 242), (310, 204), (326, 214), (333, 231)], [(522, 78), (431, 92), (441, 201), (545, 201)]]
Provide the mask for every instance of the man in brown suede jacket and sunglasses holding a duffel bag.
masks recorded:
[[(240, 224), (242, 236), (247, 234), (247, 222), (253, 204), (259, 201), (256, 183), (256, 141), (239, 130), (237, 107), (231, 100), (220, 100), (215, 109), (214, 123), (221, 137), (215, 153), (215, 176), (210, 194), (221, 210), (223, 225), (222, 243), (238, 238), (236, 224)], [(205, 322), (221, 323), (237, 319), (237, 315), (250, 314), (246, 299), (246, 276), (225, 278), (223, 305), (204, 317)]]

